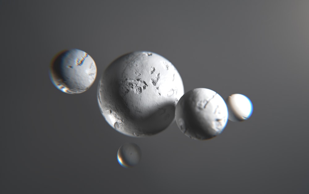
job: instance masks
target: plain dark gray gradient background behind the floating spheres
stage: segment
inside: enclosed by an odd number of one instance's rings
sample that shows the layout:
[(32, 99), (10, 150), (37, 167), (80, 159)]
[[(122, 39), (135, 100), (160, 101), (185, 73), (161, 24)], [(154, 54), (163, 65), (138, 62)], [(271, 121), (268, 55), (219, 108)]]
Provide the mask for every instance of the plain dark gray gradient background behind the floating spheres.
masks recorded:
[[(309, 193), (309, 1), (1, 1), (0, 193)], [(65, 94), (49, 63), (96, 61), (89, 91)], [(112, 129), (98, 78), (135, 50), (171, 61), (184, 90), (247, 95), (243, 123), (195, 141), (176, 123), (148, 138)], [(116, 159), (141, 147), (131, 169)]]

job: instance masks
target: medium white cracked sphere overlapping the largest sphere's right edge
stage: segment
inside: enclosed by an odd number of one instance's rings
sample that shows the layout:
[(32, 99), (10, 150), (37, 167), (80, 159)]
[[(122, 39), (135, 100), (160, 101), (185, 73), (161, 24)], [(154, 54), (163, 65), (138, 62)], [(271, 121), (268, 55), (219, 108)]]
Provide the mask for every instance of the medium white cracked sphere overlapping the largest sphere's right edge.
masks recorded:
[(186, 136), (205, 140), (223, 131), (228, 120), (228, 111), (224, 99), (215, 91), (196, 88), (180, 98), (175, 119)]

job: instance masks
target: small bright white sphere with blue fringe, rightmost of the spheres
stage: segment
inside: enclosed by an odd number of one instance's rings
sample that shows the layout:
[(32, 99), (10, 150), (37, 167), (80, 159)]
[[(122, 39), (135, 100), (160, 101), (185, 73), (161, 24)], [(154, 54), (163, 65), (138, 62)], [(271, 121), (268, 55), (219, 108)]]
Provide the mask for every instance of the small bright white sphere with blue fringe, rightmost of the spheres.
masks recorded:
[(251, 100), (242, 94), (232, 94), (226, 99), (229, 120), (234, 122), (247, 120), (253, 111)]

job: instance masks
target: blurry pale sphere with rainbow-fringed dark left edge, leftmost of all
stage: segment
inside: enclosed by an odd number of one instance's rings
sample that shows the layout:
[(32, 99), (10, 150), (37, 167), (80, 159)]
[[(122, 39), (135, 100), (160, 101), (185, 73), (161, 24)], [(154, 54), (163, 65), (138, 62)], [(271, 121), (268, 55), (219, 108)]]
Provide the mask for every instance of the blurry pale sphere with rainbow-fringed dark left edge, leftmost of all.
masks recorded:
[(78, 49), (58, 53), (50, 66), (53, 84), (68, 94), (87, 91), (95, 81), (96, 72), (95, 61)]

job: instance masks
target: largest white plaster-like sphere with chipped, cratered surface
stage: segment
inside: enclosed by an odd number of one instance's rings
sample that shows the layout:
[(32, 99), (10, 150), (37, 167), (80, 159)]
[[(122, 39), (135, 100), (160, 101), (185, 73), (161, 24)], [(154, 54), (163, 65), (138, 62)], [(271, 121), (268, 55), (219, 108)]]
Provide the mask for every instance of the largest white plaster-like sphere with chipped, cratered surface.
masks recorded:
[(174, 65), (146, 51), (117, 58), (98, 85), (98, 103), (105, 120), (132, 137), (166, 129), (175, 118), (176, 103), (183, 94), (182, 79)]

